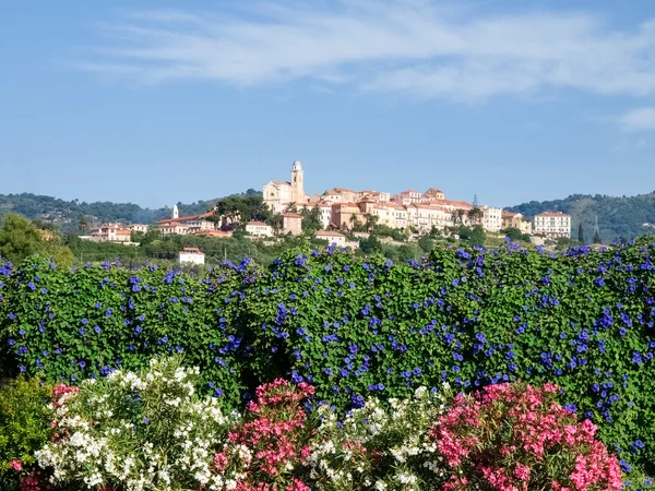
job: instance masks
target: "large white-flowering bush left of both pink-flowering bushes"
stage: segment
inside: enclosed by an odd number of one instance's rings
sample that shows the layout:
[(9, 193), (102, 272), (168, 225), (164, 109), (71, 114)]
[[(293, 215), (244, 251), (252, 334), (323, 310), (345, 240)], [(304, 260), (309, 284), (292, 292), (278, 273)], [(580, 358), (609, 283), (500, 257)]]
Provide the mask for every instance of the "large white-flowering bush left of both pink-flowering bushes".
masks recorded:
[(234, 416), (199, 399), (198, 369), (178, 357), (152, 360), (140, 374), (114, 371), (80, 390), (56, 387), (55, 435), (37, 452), (53, 482), (128, 491), (224, 489), (212, 472), (213, 447)]

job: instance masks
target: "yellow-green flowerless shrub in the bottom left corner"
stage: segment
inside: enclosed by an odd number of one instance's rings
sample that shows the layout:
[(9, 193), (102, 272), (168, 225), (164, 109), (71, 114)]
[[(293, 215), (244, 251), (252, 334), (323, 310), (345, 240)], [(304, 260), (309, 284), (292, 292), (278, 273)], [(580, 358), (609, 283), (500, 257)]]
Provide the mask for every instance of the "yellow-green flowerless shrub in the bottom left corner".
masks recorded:
[(52, 434), (50, 388), (38, 379), (21, 376), (0, 388), (0, 488), (17, 490), (20, 472), (11, 467), (21, 463), (24, 471), (35, 466), (34, 451)]

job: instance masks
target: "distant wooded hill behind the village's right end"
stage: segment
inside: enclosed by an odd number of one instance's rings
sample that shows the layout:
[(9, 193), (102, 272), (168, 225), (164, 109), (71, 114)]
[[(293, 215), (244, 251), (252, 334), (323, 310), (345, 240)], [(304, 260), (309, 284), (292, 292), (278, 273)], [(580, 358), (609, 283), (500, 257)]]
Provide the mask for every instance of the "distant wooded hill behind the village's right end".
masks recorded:
[(572, 238), (577, 239), (577, 227), (582, 223), (587, 242), (594, 237), (596, 216), (605, 243), (655, 232), (655, 191), (621, 197), (573, 194), (564, 200), (531, 201), (507, 209), (528, 217), (547, 211), (567, 213), (572, 216)]

